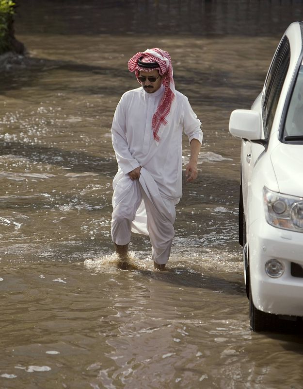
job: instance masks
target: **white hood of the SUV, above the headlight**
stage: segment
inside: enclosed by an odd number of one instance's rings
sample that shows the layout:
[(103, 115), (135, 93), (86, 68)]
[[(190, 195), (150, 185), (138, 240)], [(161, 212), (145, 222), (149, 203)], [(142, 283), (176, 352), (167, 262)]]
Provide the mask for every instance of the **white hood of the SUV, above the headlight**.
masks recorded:
[(303, 197), (303, 144), (280, 143), (271, 153), (279, 192)]

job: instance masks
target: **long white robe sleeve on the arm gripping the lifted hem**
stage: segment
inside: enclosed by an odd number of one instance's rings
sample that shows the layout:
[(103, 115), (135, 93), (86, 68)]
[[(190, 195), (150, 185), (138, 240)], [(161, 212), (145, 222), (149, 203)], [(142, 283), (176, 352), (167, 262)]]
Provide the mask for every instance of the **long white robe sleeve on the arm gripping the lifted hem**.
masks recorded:
[(128, 147), (126, 98), (126, 94), (121, 97), (112, 121), (112, 146), (116, 154), (118, 165), (122, 169), (124, 175), (140, 166), (137, 159), (132, 157)]

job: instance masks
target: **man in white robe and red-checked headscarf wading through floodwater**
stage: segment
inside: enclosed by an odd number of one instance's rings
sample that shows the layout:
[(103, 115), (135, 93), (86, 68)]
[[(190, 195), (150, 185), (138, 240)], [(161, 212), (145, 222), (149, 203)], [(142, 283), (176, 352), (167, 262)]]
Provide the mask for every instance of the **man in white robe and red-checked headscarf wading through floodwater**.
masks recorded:
[(187, 182), (197, 177), (201, 122), (175, 90), (169, 53), (148, 49), (128, 61), (140, 88), (124, 93), (112, 122), (118, 162), (113, 179), (112, 241), (128, 268), (131, 231), (149, 235), (156, 269), (164, 270), (174, 237), (175, 205), (182, 196), (182, 132), (191, 147)]

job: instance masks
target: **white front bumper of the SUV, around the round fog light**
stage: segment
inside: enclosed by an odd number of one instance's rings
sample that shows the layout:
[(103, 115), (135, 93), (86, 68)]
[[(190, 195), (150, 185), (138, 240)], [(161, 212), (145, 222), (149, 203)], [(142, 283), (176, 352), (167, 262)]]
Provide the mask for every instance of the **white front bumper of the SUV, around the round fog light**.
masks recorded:
[[(284, 274), (271, 278), (265, 272), (270, 259), (283, 262)], [(265, 220), (249, 229), (250, 282), (254, 305), (260, 311), (303, 316), (303, 277), (291, 275), (291, 263), (303, 266), (303, 233), (281, 230)]]

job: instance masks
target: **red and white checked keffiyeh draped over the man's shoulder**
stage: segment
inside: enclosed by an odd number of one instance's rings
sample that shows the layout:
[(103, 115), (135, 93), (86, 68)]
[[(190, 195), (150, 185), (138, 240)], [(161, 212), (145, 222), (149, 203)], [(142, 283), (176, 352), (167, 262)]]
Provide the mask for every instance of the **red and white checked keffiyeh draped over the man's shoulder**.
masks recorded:
[[(138, 65), (139, 59), (146, 63), (157, 62), (159, 66), (155, 68), (140, 67)], [(139, 52), (128, 61), (128, 70), (135, 71), (137, 79), (139, 77), (139, 71), (153, 71), (155, 69), (157, 69), (159, 74), (162, 76), (162, 84), (164, 85), (162, 99), (152, 118), (154, 139), (156, 144), (159, 144), (164, 126), (167, 124), (167, 116), (173, 112), (175, 105), (173, 105), (175, 99), (175, 83), (171, 57), (166, 51), (155, 48)]]

